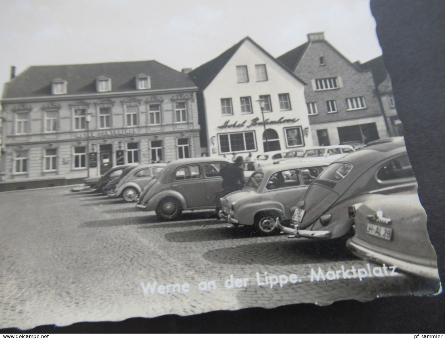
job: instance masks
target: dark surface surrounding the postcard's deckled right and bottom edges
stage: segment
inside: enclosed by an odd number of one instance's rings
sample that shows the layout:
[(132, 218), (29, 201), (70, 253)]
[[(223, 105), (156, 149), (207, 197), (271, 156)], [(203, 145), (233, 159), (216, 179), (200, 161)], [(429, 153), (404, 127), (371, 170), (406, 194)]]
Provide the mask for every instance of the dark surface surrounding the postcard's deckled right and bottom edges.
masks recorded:
[[(384, 62), (392, 78), (406, 146), (444, 275), (445, 6), (443, 0), (371, 0)], [(306, 34), (307, 32), (300, 32)], [(401, 332), (444, 333), (445, 295), (388, 297), (368, 303), (248, 308), (181, 317), (39, 326), (23, 333), (73, 332)], [(4, 329), (1, 332), (21, 332)]]

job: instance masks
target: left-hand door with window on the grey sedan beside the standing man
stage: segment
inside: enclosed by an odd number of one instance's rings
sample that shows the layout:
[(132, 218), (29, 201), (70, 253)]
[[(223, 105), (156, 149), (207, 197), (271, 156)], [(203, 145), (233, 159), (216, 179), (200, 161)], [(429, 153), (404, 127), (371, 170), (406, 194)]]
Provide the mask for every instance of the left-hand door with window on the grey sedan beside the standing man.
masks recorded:
[(172, 189), (185, 198), (189, 209), (207, 206), (206, 179), (199, 164), (179, 167), (173, 176)]

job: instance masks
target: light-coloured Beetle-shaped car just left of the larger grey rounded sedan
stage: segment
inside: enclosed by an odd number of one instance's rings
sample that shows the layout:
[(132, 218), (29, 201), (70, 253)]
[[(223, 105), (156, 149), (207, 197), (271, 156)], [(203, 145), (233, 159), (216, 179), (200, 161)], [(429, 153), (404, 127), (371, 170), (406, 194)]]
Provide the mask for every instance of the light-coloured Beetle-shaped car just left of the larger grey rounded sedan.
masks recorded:
[(135, 202), (142, 190), (158, 174), (165, 164), (138, 165), (125, 174), (116, 187), (108, 192), (110, 198), (122, 198), (125, 202)]

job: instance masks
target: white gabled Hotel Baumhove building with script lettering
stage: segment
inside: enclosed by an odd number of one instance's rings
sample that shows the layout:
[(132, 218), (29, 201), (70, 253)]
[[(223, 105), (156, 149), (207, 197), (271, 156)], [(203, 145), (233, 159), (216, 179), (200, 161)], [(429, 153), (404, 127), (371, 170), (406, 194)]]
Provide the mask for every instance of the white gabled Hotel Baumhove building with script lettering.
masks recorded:
[[(203, 153), (235, 152), (245, 157), (249, 152), (312, 146), (305, 83), (251, 38), (239, 41), (189, 76), (199, 88)], [(263, 115), (260, 99), (265, 101)]]

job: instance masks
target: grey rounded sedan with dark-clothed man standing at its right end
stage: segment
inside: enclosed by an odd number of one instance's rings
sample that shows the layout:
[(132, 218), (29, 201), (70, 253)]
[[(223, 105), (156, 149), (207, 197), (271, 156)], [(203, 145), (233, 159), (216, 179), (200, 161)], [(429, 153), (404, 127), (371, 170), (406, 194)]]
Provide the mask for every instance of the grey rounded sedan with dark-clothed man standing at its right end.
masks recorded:
[(215, 209), (214, 198), (223, 182), (219, 170), (229, 163), (219, 157), (172, 161), (146, 186), (136, 208), (156, 211), (162, 220), (178, 218), (183, 210)]

